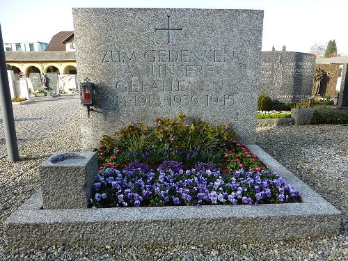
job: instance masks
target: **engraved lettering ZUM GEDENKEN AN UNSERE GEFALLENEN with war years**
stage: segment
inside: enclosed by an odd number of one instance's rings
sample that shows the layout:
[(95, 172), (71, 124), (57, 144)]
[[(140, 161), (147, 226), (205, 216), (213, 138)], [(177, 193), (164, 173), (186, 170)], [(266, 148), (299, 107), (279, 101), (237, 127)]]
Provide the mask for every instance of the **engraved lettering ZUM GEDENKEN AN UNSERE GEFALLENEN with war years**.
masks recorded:
[(102, 50), (104, 66), (115, 66), (115, 92), (108, 106), (141, 108), (233, 106), (232, 86), (223, 67), (233, 65), (229, 49)]

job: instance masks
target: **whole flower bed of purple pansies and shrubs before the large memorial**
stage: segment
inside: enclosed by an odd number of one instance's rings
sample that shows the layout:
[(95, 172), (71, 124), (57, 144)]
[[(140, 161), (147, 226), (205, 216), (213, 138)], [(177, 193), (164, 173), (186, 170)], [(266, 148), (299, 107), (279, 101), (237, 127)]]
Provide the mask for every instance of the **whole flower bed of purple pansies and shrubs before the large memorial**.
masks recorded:
[(269, 171), (228, 125), (186, 117), (129, 125), (104, 136), (93, 208), (299, 202), (299, 192)]

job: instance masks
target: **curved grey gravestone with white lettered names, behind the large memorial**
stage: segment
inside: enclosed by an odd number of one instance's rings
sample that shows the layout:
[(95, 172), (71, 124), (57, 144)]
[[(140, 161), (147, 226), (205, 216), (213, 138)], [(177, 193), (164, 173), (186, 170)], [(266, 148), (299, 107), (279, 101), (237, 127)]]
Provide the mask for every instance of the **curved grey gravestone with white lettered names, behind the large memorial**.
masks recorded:
[(307, 101), (312, 94), (315, 55), (262, 52), (260, 93), (279, 102)]

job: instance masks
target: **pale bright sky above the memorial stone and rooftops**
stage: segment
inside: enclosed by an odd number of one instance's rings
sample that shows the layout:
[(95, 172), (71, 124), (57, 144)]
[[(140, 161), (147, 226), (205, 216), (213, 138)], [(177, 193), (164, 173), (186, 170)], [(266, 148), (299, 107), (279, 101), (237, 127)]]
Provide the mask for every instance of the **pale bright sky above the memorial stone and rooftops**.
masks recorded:
[(72, 7), (228, 8), (264, 10), (262, 50), (309, 52), (315, 43), (336, 40), (348, 55), (347, 0), (0, 0), (4, 42), (49, 42), (59, 31), (73, 30)]

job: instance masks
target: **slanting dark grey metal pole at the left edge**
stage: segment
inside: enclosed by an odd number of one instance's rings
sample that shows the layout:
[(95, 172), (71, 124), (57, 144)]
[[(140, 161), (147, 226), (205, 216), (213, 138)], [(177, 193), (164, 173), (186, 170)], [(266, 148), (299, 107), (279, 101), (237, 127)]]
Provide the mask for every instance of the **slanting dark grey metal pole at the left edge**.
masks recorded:
[(15, 129), (15, 119), (13, 118), (13, 108), (8, 84), (5, 51), (0, 24), (0, 103), (3, 117), (3, 130), (7, 146), (8, 160), (11, 162), (19, 161), (17, 136)]

